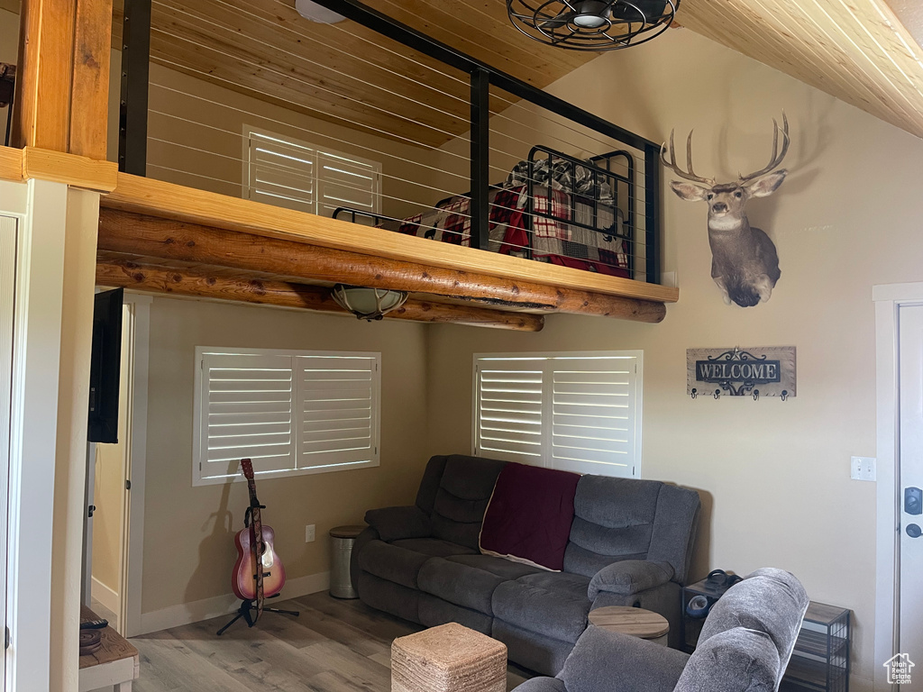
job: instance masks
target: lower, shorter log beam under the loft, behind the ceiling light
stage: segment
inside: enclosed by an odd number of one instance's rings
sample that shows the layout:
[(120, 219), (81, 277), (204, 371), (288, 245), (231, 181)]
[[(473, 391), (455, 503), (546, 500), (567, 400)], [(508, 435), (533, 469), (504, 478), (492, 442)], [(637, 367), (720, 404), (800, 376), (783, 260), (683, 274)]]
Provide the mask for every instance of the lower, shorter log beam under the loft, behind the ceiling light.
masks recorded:
[[(197, 298), (238, 301), (262, 305), (301, 308), (348, 315), (330, 297), (330, 289), (286, 281), (253, 280), (216, 276), (208, 268), (172, 269), (135, 262), (98, 261), (96, 283), (123, 286), (138, 291), (185, 295)], [(473, 327), (540, 331), (541, 315), (500, 312), (473, 305), (453, 305), (408, 300), (386, 319), (414, 322), (449, 322)]]

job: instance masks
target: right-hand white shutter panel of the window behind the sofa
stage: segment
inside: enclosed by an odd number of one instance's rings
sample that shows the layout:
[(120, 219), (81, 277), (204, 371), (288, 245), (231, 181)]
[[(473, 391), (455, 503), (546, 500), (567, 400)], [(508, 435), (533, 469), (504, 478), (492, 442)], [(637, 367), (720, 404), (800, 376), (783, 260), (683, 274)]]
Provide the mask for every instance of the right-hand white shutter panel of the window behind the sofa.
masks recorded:
[(554, 358), (549, 466), (636, 475), (637, 358)]

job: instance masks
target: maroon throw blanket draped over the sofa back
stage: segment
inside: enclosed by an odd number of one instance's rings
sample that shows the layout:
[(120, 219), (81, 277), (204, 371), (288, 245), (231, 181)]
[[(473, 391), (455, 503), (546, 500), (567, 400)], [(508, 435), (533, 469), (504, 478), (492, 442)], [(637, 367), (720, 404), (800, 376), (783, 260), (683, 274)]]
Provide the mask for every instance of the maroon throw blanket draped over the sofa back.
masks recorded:
[(509, 463), (481, 528), (481, 552), (560, 571), (580, 474)]

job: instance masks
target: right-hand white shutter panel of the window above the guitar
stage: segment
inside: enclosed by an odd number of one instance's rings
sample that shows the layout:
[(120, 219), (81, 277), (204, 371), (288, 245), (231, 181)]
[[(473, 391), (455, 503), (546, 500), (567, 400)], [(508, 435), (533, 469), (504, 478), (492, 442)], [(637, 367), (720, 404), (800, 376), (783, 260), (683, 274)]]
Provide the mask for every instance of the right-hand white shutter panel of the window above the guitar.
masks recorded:
[(298, 468), (378, 465), (380, 356), (299, 355)]

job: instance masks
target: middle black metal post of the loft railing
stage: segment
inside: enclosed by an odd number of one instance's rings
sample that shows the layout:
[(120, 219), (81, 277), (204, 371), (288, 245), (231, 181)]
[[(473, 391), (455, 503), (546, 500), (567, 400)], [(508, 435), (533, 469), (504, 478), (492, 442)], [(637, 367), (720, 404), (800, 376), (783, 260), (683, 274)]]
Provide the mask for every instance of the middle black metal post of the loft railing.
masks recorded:
[(471, 73), (471, 246), (490, 241), (490, 73)]

